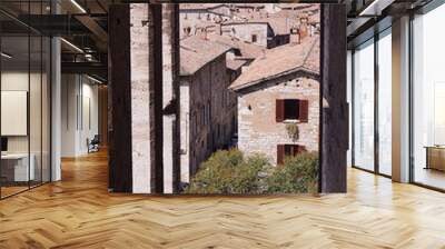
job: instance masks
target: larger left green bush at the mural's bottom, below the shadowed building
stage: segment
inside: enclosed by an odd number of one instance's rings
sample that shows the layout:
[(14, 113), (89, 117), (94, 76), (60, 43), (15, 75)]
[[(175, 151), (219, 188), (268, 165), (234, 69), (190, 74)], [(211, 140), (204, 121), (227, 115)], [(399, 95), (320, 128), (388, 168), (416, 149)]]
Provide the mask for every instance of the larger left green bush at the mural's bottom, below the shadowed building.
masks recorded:
[(185, 192), (260, 193), (265, 190), (260, 172), (269, 168), (267, 159), (260, 155), (245, 158), (237, 149), (219, 150), (201, 163)]

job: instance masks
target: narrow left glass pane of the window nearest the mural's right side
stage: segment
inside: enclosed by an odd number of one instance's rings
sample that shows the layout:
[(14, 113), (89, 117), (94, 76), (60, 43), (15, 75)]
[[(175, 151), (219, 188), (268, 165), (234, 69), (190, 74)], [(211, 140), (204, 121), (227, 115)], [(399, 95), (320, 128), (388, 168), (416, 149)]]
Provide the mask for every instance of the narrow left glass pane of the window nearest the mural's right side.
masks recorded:
[(354, 53), (354, 165), (374, 170), (374, 41)]

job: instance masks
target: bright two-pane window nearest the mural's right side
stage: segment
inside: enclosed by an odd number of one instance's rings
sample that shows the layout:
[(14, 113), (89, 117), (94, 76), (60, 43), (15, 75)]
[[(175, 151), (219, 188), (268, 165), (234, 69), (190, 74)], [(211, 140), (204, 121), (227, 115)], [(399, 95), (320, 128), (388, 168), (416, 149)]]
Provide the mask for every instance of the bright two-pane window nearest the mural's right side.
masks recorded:
[(352, 165), (392, 175), (390, 28), (353, 50)]

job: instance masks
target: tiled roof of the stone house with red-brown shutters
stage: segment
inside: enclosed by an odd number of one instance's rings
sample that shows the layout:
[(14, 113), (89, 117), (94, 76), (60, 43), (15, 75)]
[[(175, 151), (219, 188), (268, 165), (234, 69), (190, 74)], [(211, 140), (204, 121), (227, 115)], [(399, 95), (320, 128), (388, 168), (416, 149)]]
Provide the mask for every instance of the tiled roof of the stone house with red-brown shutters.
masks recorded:
[(319, 73), (319, 36), (305, 38), (300, 44), (286, 44), (267, 50), (266, 54), (257, 58), (230, 88), (244, 89), (303, 70)]

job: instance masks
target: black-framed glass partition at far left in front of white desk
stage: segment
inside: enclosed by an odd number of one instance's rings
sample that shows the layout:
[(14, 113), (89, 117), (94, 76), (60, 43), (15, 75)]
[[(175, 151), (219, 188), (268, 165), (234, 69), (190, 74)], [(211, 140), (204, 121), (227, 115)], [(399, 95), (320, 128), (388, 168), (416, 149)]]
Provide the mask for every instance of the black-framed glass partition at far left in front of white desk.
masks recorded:
[[(20, 8), (48, 11), (43, 1)], [(0, 19), (12, 23), (0, 26), (0, 198), (6, 198), (50, 181), (51, 43), (9, 16)]]

